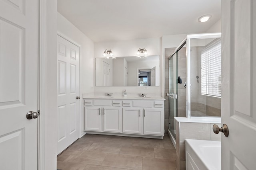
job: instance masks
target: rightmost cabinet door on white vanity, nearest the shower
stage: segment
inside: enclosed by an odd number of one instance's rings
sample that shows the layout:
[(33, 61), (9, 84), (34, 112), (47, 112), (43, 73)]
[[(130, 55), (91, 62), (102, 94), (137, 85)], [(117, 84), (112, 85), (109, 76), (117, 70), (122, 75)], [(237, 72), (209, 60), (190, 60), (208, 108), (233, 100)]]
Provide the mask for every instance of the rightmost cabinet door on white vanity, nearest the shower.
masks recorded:
[(164, 111), (144, 109), (144, 134), (163, 135), (164, 132)]

